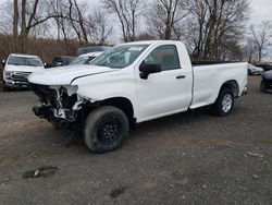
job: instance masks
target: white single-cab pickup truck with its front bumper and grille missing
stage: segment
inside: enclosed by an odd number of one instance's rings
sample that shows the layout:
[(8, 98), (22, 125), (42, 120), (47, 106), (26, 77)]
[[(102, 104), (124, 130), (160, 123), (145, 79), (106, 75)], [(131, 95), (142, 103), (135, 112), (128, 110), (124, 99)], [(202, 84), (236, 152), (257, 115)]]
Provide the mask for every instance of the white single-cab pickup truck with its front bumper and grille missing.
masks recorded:
[(230, 114), (234, 98), (246, 93), (247, 63), (193, 67), (181, 41), (137, 41), (28, 81), (41, 101), (36, 116), (81, 131), (89, 149), (103, 153), (118, 148), (136, 123), (208, 105)]

